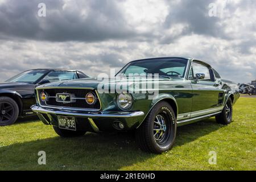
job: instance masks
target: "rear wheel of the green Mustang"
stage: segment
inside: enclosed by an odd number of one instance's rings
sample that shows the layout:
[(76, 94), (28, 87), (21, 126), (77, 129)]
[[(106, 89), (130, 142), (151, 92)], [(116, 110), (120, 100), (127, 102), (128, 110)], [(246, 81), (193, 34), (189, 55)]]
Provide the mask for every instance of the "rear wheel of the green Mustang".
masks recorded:
[(220, 123), (221, 125), (228, 125), (232, 121), (232, 115), (233, 115), (232, 100), (231, 98), (228, 98), (228, 101), (226, 102), (224, 109), (219, 115), (216, 115), (215, 118), (217, 123)]

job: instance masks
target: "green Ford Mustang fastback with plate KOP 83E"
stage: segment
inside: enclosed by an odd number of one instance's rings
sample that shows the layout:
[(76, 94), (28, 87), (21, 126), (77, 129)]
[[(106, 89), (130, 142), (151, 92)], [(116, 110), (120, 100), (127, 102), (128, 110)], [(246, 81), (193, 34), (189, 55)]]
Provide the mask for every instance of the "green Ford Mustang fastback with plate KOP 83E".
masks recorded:
[(114, 78), (45, 84), (36, 94), (32, 110), (61, 137), (135, 130), (139, 147), (154, 153), (170, 150), (177, 126), (209, 117), (229, 124), (240, 97), (209, 64), (182, 57), (131, 61)]

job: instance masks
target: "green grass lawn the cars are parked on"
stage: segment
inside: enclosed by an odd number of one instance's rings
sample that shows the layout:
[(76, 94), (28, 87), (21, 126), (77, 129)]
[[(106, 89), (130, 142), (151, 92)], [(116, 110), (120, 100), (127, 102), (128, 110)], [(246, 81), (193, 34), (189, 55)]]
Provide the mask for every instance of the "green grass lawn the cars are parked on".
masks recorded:
[[(174, 148), (161, 155), (140, 151), (132, 134), (64, 139), (37, 119), (20, 119), (0, 127), (0, 170), (256, 170), (256, 98), (240, 98), (233, 112), (228, 126), (210, 118), (178, 127)], [(209, 164), (210, 151), (217, 164)]]

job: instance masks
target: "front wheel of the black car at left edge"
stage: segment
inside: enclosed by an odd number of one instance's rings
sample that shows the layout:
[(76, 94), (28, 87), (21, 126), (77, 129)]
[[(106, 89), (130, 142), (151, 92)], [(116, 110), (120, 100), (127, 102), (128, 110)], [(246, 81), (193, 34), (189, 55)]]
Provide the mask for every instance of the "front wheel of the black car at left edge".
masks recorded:
[(15, 123), (19, 116), (19, 107), (10, 97), (0, 97), (0, 126)]

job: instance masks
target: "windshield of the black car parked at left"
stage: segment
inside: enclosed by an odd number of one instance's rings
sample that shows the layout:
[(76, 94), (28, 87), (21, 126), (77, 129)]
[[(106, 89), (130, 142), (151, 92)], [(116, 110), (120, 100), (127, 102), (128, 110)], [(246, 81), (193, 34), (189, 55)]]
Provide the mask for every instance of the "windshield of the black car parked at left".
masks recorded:
[(44, 69), (30, 70), (14, 76), (9, 80), (6, 80), (6, 82), (27, 82), (32, 84), (38, 81), (46, 72), (47, 70)]

